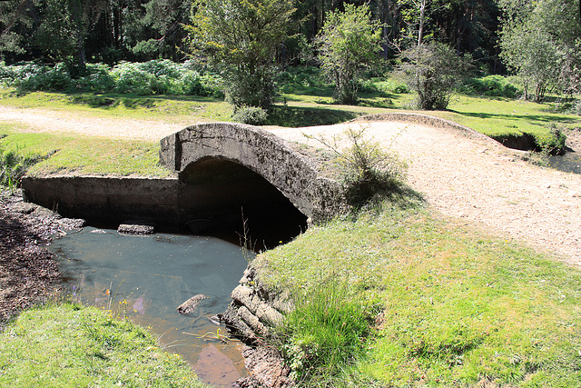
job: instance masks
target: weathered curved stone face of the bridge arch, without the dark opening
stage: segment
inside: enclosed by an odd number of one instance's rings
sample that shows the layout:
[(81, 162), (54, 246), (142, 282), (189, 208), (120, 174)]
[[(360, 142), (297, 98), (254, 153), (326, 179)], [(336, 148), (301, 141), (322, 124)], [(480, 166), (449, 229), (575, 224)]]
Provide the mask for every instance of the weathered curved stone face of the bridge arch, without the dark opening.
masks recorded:
[(226, 172), (225, 166), (258, 174), (313, 221), (329, 218), (339, 204), (338, 184), (321, 176), (314, 164), (285, 141), (255, 126), (189, 126), (162, 139), (160, 158), (183, 182), (211, 176), (213, 168)]

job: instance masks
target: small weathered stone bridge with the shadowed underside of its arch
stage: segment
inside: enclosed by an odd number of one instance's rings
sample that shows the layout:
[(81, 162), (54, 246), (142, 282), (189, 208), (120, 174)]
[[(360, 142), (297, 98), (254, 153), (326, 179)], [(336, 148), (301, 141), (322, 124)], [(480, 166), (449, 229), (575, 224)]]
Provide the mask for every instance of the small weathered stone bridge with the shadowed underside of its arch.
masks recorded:
[(162, 139), (160, 159), (182, 184), (196, 187), (192, 201), (206, 212), (240, 212), (243, 206), (244, 212), (281, 217), (291, 204), (305, 220), (318, 222), (335, 214), (339, 204), (335, 181), (290, 144), (251, 125), (189, 126)]

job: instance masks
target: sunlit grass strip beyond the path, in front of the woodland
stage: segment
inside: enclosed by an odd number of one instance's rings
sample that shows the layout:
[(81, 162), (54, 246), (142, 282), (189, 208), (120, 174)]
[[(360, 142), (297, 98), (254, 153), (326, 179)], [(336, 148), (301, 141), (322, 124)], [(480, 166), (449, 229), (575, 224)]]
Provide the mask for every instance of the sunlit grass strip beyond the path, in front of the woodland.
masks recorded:
[[(411, 93), (395, 92), (402, 87), (396, 78), (373, 80), (368, 84), (360, 94), (358, 106), (333, 104), (330, 86), (283, 87), (289, 92), (282, 93), (280, 102), (271, 109), (268, 124), (291, 127), (337, 124), (364, 114), (409, 110), (415, 98)], [(173, 122), (229, 121), (232, 114), (231, 106), (222, 100), (195, 96), (61, 94), (0, 89), (0, 104)], [(447, 111), (420, 113), (446, 118), (491, 136), (527, 133), (543, 140), (549, 135), (551, 123), (569, 127), (581, 125), (578, 115), (554, 113), (555, 107), (553, 102), (536, 104), (506, 97), (455, 95)]]

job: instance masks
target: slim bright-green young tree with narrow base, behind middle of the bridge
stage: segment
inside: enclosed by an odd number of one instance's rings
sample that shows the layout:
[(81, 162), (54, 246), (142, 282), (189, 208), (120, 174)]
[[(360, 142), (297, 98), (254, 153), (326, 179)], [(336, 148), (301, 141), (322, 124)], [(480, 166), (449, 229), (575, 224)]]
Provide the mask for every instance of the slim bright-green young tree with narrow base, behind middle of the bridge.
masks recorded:
[(335, 83), (340, 104), (356, 104), (359, 77), (379, 59), (381, 25), (369, 19), (368, 5), (330, 12), (315, 39), (324, 73)]

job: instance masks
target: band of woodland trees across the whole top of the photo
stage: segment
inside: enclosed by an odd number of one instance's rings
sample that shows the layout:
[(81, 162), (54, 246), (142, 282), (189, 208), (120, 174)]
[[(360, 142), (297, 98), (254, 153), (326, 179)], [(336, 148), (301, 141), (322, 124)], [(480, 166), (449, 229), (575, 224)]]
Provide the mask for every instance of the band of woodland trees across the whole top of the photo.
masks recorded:
[[(358, 25), (364, 27), (359, 33)], [(347, 31), (351, 37), (333, 41)], [(42, 65), (36, 67), (40, 73), (56, 72), (61, 78), (66, 73), (72, 80), (84, 77), (75, 88), (104, 92), (106, 88), (92, 85), (113, 66), (153, 60), (158, 66), (185, 63), (195, 70), (190, 81), (195, 80), (181, 85), (180, 94), (220, 95), (213, 81), (223, 78), (229, 81), (225, 85), (243, 85), (242, 90), (224, 87), (235, 106), (268, 106), (281, 69), (304, 65), (328, 75), (344, 104), (357, 104), (361, 77), (395, 69), (415, 77), (410, 87), (420, 96), (430, 88), (447, 89), (450, 80), (462, 75), (518, 75), (525, 98), (530, 95), (537, 102), (547, 94), (569, 98), (581, 85), (580, 53), (578, 0), (0, 2), (0, 78), (5, 83), (22, 87), (30, 66)], [(338, 59), (347, 56), (350, 65)], [(20, 70), (12, 65), (20, 65)], [(28, 73), (23, 73), (22, 65), (28, 65)], [(185, 70), (180, 69), (183, 78)], [(344, 83), (350, 85), (341, 86)], [(71, 87), (64, 84), (57, 79), (48, 86), (27, 87)], [(249, 98), (244, 88), (254, 96)], [(123, 87), (117, 91), (123, 92)], [(178, 93), (172, 87), (141, 92)], [(419, 107), (445, 108), (442, 98), (432, 96)]]

